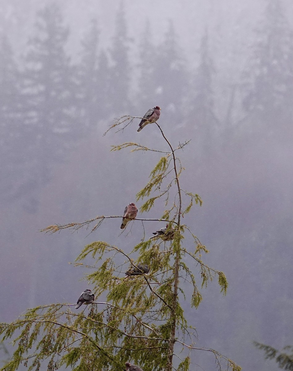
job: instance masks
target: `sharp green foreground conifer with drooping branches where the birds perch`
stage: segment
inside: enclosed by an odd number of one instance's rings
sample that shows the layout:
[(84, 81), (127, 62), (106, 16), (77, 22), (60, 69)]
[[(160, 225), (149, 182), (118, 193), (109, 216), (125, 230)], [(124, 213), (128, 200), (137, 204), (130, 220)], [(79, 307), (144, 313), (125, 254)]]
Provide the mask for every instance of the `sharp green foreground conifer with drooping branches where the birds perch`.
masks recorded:
[[(122, 125), (120, 130), (126, 129), (133, 119), (122, 117), (111, 128)], [(65, 365), (73, 370), (118, 371), (124, 370), (125, 362), (130, 361), (144, 371), (187, 371), (193, 369), (192, 352), (198, 350), (214, 354), (219, 369), (220, 362), (225, 361), (231, 370), (241, 370), (217, 351), (196, 347), (195, 328), (184, 316), (182, 304), (188, 301), (192, 308), (197, 308), (202, 301), (201, 288), (214, 277), (224, 294), (228, 283), (223, 272), (204, 263), (203, 256), (208, 250), (191, 228), (182, 223), (184, 215), (202, 203), (198, 194), (180, 186), (184, 169), (177, 153), (188, 142), (174, 148), (159, 125), (155, 125), (167, 149), (147, 148), (134, 142), (112, 147), (112, 151), (132, 148), (134, 152), (158, 154), (148, 183), (136, 194), (136, 201), (142, 203), (139, 213), (147, 212), (151, 218), (138, 214), (125, 228), (127, 233), (142, 223), (143, 239), (130, 253), (105, 241), (92, 242), (82, 250), (76, 262), (90, 268), (86, 278), (96, 297), (82, 311), (72, 310), (72, 305), (66, 303), (39, 306), (11, 324), (1, 324), (4, 341), (12, 338), (16, 348), (5, 366), (7, 370), (17, 370), (21, 363), (28, 370), (39, 370), (45, 362), (48, 370)], [(160, 202), (165, 204), (165, 211), (158, 217), (156, 209)], [(95, 231), (113, 218), (119, 218), (120, 225), (121, 215), (101, 215), (81, 223), (52, 225), (44, 231), (79, 230), (90, 225)], [(171, 237), (165, 241), (149, 239), (146, 234), (149, 220), (168, 223), (166, 233)], [(129, 276), (129, 269), (137, 272), (139, 264), (147, 264), (149, 272)], [(188, 286), (192, 294), (185, 297), (184, 291), (190, 292)], [(105, 300), (100, 301), (101, 297)]]

